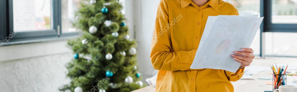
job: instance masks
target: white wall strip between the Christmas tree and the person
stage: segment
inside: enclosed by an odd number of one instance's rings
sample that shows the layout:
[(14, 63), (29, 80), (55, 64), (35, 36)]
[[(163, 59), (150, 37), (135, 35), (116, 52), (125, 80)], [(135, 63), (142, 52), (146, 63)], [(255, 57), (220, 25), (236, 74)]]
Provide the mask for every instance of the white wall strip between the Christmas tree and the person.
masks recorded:
[(157, 74), (157, 70), (151, 65), (150, 52), (159, 2), (160, 0), (134, 0), (131, 5), (134, 7), (135, 38), (138, 42), (138, 67), (144, 80)]

